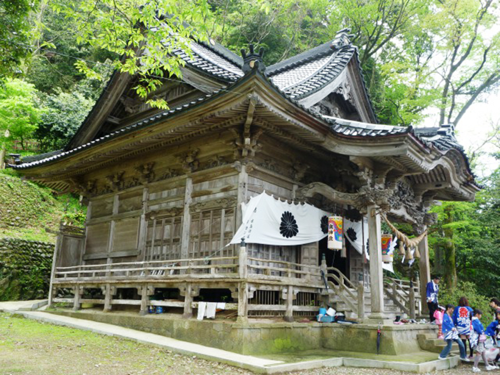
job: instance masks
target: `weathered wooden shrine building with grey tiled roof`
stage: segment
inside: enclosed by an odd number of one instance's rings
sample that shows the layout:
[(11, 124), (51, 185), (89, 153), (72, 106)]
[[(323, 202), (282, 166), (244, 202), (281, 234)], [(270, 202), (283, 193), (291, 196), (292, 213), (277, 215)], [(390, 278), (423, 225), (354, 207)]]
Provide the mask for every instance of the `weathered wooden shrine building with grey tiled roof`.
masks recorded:
[[(65, 149), (12, 166), (88, 205), (84, 228), (60, 228), (50, 301), (184, 316), (200, 300), (225, 301), (244, 321), (312, 316), (324, 302), (379, 319), (389, 298), (414, 313), (419, 286), (383, 277), (381, 216), (418, 235), (434, 199), (474, 199), (453, 126), (378, 124), (346, 30), (267, 67), (252, 48), (243, 57), (211, 42), (191, 48), (192, 57), (177, 52), (182, 79), (154, 93), (171, 109), (146, 105), (137, 78), (115, 72)], [(264, 191), (362, 222), (362, 249), (350, 238), (341, 256), (325, 239), (286, 245), (284, 234), (285, 244), (226, 246), (241, 203)], [(425, 237), (418, 250), (424, 286)], [(61, 297), (64, 288), (74, 296)]]

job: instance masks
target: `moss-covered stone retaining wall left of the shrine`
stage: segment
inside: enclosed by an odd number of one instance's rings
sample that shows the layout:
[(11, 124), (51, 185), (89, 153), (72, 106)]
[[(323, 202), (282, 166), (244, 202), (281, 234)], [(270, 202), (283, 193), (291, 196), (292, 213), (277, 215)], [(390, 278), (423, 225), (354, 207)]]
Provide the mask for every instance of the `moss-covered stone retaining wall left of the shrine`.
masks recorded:
[(45, 298), (54, 244), (0, 238), (0, 300)]

